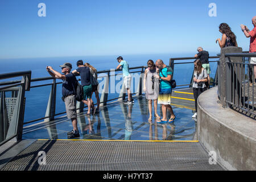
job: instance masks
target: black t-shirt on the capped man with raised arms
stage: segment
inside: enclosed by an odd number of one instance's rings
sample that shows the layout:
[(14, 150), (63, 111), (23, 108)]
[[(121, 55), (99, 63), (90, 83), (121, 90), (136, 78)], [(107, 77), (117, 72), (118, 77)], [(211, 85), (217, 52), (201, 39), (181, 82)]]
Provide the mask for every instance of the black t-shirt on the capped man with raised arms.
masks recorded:
[(72, 73), (68, 73), (65, 76), (66, 80), (63, 80), (62, 84), (62, 95), (67, 97), (76, 93), (76, 76), (74, 76)]

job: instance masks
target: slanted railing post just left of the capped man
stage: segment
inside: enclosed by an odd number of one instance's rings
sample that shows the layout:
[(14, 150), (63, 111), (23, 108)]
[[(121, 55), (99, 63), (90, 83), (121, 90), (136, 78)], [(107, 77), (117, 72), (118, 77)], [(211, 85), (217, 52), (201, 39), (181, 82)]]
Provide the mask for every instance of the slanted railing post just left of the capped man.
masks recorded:
[(55, 106), (56, 106), (56, 79), (53, 78), (51, 93), (49, 94), (49, 100), (48, 100), (46, 115), (45, 115), (46, 117), (49, 117), (49, 118), (44, 119), (44, 122), (49, 122), (54, 120)]

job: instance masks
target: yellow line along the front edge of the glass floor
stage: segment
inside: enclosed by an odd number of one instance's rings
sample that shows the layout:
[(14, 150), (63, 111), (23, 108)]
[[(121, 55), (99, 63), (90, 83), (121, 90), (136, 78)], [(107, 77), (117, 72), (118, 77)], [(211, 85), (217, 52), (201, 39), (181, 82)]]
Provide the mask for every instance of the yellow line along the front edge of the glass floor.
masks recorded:
[(199, 142), (199, 140), (86, 140), (86, 139), (38, 139), (38, 140), (65, 140), (65, 141), (105, 141), (105, 142)]

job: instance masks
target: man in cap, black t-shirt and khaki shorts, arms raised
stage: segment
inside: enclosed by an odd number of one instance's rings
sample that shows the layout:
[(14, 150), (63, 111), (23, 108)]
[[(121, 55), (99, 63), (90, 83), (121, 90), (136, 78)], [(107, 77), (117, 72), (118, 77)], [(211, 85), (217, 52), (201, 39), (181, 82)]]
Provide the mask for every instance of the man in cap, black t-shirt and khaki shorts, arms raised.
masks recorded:
[(58, 78), (63, 80), (62, 84), (62, 95), (63, 95), (63, 101), (65, 102), (65, 108), (67, 117), (71, 119), (73, 130), (71, 132), (68, 132), (68, 138), (76, 138), (80, 137), (79, 130), (77, 129), (77, 117), (76, 117), (76, 77), (70, 73), (72, 69), (72, 64), (65, 63), (63, 65), (60, 65), (61, 67), (61, 73), (55, 71), (52, 69), (52, 67), (48, 66), (46, 67), (46, 70), (48, 71), (49, 75), (51, 75), (53, 78)]

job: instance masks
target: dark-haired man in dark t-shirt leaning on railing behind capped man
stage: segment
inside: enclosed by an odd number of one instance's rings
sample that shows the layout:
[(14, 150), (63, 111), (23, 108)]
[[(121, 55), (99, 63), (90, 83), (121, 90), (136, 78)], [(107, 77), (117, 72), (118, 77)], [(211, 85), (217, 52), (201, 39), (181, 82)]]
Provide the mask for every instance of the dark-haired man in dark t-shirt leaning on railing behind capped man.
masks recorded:
[[(92, 106), (92, 102), (90, 101), (90, 98), (92, 98), (92, 84), (90, 82), (90, 68), (85, 67), (82, 60), (77, 61), (76, 63), (77, 68), (72, 73), (80, 75), (81, 77), (81, 84), (82, 89), (84, 90), (84, 104), (88, 105), (88, 111), (85, 115), (90, 116), (90, 107)], [(87, 98), (87, 101), (86, 101)]]

